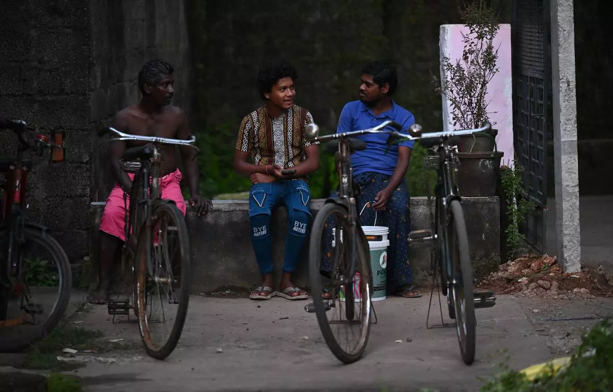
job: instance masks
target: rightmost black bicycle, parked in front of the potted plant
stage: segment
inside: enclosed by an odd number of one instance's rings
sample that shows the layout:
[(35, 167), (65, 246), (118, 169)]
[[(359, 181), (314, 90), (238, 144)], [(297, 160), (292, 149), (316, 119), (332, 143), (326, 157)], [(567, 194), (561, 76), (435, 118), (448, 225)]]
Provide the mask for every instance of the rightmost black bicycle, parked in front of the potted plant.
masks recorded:
[[(462, 197), (453, 173), (457, 172), (460, 162), (455, 156), (455, 145), (459, 136), (485, 132), (490, 123), (478, 129), (453, 130), (424, 134), (419, 124), (409, 128), (409, 140), (419, 140), (420, 144), (433, 153), (424, 158), (427, 169), (436, 170), (438, 181), (435, 186), (435, 217), (432, 218), (432, 205), (428, 194), (428, 208), (432, 229), (414, 230), (409, 233), (409, 244), (432, 241), (433, 280), (440, 277), (441, 292), (447, 298), (449, 317), (455, 320), (455, 329), (460, 345), (460, 354), (465, 364), (472, 364), (475, 354), (476, 317), (474, 309), (495, 305), (493, 292), (473, 291), (473, 268), (470, 261), (470, 244), (466, 233), (466, 222), (462, 209)], [(403, 139), (408, 140), (408, 139)], [(399, 140), (402, 141), (402, 140)], [(433, 148), (436, 147), (436, 151)], [(436, 271), (438, 269), (438, 271)], [(434, 284), (432, 290), (434, 290)], [(430, 295), (432, 305), (432, 293)], [(428, 306), (428, 318), (430, 317)], [(459, 309), (459, 312), (457, 311)], [(441, 306), (441, 320), (443, 311)], [(444, 324), (443, 324), (444, 325)]]

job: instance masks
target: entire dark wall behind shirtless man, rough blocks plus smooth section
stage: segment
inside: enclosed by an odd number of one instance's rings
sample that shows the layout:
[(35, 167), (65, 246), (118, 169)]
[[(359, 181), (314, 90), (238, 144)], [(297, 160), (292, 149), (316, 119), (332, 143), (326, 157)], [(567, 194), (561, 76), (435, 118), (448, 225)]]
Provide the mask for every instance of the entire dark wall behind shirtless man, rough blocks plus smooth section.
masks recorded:
[[(2, 2), (0, 113), (41, 133), (66, 132), (64, 162), (34, 159), (28, 203), (73, 263), (89, 254), (89, 203), (105, 200), (112, 185), (95, 131), (138, 102), (138, 71), (158, 56), (175, 66), (175, 104), (189, 112), (183, 0)], [(0, 133), (0, 156), (15, 146), (12, 134)]]

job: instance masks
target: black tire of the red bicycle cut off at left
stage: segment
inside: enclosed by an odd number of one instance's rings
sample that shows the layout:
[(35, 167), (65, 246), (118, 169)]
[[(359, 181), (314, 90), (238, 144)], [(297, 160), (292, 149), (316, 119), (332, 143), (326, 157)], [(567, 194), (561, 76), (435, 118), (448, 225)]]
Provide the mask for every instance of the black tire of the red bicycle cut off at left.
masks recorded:
[[(49, 317), (42, 324), (40, 328), (37, 328), (32, 333), (26, 334), (26, 336), (20, 337), (15, 340), (2, 339), (0, 334), (0, 352), (17, 352), (26, 349), (32, 344), (39, 342), (45, 336), (47, 336), (53, 328), (58, 325), (61, 318), (64, 316), (68, 304), (70, 301), (70, 289), (72, 288), (72, 272), (70, 271), (70, 262), (66, 256), (66, 252), (55, 238), (48, 235), (48, 233), (40, 228), (28, 227), (23, 228), (26, 241), (28, 239), (38, 242), (42, 245), (56, 260), (58, 269), (60, 271), (59, 282), (59, 296), (53, 309), (51, 310)], [(0, 230), (0, 244), (2, 239), (9, 235), (9, 231), (4, 229)], [(9, 337), (10, 339), (10, 337)]]

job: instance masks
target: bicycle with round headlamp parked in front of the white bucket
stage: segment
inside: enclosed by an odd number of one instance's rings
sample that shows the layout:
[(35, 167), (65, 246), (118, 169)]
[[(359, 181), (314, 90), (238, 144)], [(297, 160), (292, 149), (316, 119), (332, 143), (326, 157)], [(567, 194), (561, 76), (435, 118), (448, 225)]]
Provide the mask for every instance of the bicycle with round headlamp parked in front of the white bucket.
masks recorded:
[[(396, 131), (383, 130), (385, 127), (394, 127)], [(398, 132), (402, 126), (394, 121), (384, 121), (376, 127), (353, 132), (319, 135), (316, 124), (308, 124), (305, 136), (313, 141), (327, 141), (329, 151), (335, 151), (335, 162), (338, 170), (340, 185), (337, 198), (326, 200), (323, 208), (316, 214), (309, 239), (309, 275), (313, 290), (313, 303), (305, 306), (305, 311), (315, 313), (324, 340), (330, 351), (338, 360), (345, 364), (359, 360), (366, 349), (371, 325), (371, 295), (373, 295), (373, 277), (370, 266), (370, 248), (368, 240), (362, 231), (359, 214), (357, 213), (357, 193), (354, 189), (351, 170), (351, 151), (362, 151), (366, 143), (353, 136), (375, 132), (387, 132), (403, 135)], [(406, 136), (406, 135), (403, 135)], [(326, 222), (330, 216), (335, 217), (333, 251), (330, 256), (332, 273), (327, 278), (328, 290), (332, 298), (324, 299), (322, 292), (322, 273), (320, 263), (322, 260), (322, 233), (326, 229)], [(357, 290), (356, 290), (357, 288)], [(345, 311), (335, 303), (336, 298), (345, 298)], [(359, 304), (356, 315), (355, 303)], [(339, 309), (339, 320), (330, 321), (327, 312)], [(341, 320), (342, 316), (346, 320)], [(356, 319), (357, 316), (357, 319)], [(375, 315), (376, 317), (376, 315)], [(359, 336), (356, 344), (348, 348), (341, 347), (332, 333), (331, 325), (359, 325)]]

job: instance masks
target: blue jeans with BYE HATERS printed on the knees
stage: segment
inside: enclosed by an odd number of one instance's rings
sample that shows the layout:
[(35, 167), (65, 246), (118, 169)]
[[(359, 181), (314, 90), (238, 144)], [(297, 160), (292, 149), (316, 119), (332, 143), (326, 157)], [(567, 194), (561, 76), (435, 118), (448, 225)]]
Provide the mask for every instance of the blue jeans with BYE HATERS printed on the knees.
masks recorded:
[(311, 217), (309, 208), (311, 191), (308, 184), (301, 179), (295, 179), (251, 186), (249, 191), (251, 243), (262, 275), (273, 271), (270, 216), (272, 209), (281, 203), (287, 207), (287, 227), (289, 229), (285, 241), (283, 271), (293, 273), (296, 270), (302, 246), (307, 239)]

